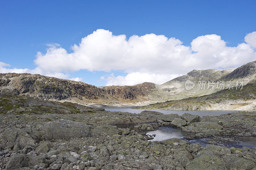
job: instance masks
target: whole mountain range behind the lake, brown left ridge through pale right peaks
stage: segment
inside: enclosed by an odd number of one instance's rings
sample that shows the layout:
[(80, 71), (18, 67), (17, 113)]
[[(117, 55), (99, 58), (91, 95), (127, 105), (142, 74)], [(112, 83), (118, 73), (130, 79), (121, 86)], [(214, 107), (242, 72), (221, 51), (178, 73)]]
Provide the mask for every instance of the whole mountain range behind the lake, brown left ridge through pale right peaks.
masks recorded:
[[(0, 94), (16, 94), (41, 100), (69, 101), (95, 106), (103, 104), (126, 107), (150, 104), (143, 108), (171, 110), (233, 109), (235, 107), (220, 107), (220, 102), (225, 100), (226, 104), (230, 103), (232, 99), (230, 96), (236, 94), (239, 94), (236, 98), (238, 103), (246, 103), (250, 97), (254, 100), (255, 91), (253, 91), (253, 87), (255, 79), (256, 61), (236, 69), (192, 70), (188, 74), (174, 78), (162, 85), (145, 82), (133, 86), (96, 87), (83, 82), (39, 74), (0, 73)], [(194, 87), (190, 90), (185, 87), (187, 80), (194, 84)], [(199, 82), (202, 81), (205, 82), (205, 88), (198, 88)], [(243, 81), (243, 85), (246, 85), (247, 90), (242, 89), (238, 92), (216, 88), (217, 84), (213, 87), (210, 86), (212, 82), (221, 81)], [(225, 86), (226, 88), (227, 86)], [(250, 97), (243, 98), (243, 93)], [(214, 100), (210, 98), (214, 98)], [(228, 100), (230, 101), (228, 102)], [(235, 106), (232, 101), (230, 106), (231, 104)], [(238, 106), (237, 108), (239, 109)], [(252, 106), (250, 105), (248, 108), (252, 108)]]

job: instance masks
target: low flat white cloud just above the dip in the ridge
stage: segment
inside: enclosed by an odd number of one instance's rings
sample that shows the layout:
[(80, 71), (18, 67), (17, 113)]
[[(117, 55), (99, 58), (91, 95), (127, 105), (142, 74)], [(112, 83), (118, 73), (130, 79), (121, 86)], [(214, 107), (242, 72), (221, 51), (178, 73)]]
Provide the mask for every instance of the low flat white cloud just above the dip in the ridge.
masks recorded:
[(137, 85), (143, 82), (154, 82), (156, 84), (163, 84), (173, 78), (179, 77), (179, 74), (150, 74), (133, 72), (126, 76), (109, 76), (106, 79), (108, 85)]

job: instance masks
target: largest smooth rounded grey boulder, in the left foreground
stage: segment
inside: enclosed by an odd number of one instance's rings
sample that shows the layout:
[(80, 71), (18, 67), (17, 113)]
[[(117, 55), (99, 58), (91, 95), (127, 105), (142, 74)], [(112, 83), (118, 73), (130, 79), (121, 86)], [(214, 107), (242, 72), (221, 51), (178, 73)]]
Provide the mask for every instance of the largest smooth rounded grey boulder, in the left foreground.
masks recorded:
[(88, 137), (90, 132), (88, 125), (64, 119), (46, 122), (43, 126), (39, 126), (39, 129), (41, 139), (45, 140)]

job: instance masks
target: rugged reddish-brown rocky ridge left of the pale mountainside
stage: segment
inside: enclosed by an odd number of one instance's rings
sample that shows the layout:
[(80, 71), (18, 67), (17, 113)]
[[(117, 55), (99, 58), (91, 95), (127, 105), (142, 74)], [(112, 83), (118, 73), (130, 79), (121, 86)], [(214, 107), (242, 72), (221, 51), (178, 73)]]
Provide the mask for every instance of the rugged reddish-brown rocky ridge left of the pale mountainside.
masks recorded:
[[(99, 88), (82, 82), (41, 76), (38, 74), (0, 74), (0, 94), (20, 94), (43, 100), (79, 100), (97, 101), (124, 99), (135, 100), (148, 95), (156, 88), (153, 83), (134, 86), (109, 86)], [(106, 102), (107, 104), (107, 102)]]

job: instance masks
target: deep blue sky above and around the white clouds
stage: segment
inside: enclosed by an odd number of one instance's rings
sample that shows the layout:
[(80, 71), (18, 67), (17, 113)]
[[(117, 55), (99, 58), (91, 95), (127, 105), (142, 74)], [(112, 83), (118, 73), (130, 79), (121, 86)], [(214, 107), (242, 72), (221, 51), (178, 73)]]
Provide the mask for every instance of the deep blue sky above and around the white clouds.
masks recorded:
[[(38, 66), (34, 63), (36, 54), (38, 51), (45, 54), (48, 48), (46, 44), (58, 43), (67, 53), (72, 53), (71, 46), (79, 46), (83, 37), (97, 29), (109, 30), (113, 35), (125, 34), (126, 39), (132, 35), (143, 36), (150, 33), (167, 38), (175, 37), (186, 47), (190, 47), (190, 43), (199, 36), (216, 34), (221, 36), (227, 47), (237, 47), (238, 44), (244, 43), (246, 34), (256, 31), (255, 6), (256, 1), (0, 1), (0, 62), (9, 64), (10, 66), (6, 67), (8, 69), (33, 70)], [(254, 41), (253, 37), (251, 41)], [(248, 57), (244, 62), (255, 58), (255, 48), (252, 43), (247, 44), (252, 46), (253, 52), (246, 53)], [(182, 60), (182, 56), (180, 59)], [(116, 57), (116, 60), (119, 58)], [(170, 60), (172, 61), (175, 62)], [(207, 63), (194, 67), (205, 69), (205, 64)], [(208, 65), (210, 69), (235, 67), (239, 64), (244, 63), (237, 59), (233, 65)], [(115, 82), (114, 85), (123, 85), (129, 80), (124, 81), (127, 74), (149, 73), (149, 66), (150, 64), (145, 66), (145, 69), (138, 69), (130, 65), (113, 67), (113, 70), (101, 70), (98, 67), (91, 71), (88, 71), (87, 67), (81, 67), (79, 70), (59, 72), (68, 74), (67, 78), (79, 77), (84, 82), (97, 86), (112, 85), (111, 81)], [(129, 70), (130, 68), (132, 69)], [(192, 68), (193, 65), (184, 70), (165, 69), (165, 75), (162, 76), (163, 79), (168, 75), (170, 78), (171, 75), (175, 77)], [(161, 74), (161, 71), (163, 70), (156, 68), (150, 74), (156, 76)], [(116, 77), (119, 75), (122, 77), (118, 80)]]

